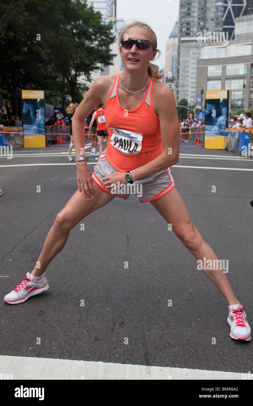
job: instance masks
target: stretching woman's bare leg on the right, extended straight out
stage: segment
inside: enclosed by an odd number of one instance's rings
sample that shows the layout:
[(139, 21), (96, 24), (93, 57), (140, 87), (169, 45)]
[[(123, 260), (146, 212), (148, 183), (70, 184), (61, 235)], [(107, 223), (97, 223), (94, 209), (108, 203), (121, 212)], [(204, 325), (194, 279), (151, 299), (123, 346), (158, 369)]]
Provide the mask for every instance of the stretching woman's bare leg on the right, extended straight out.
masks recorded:
[[(190, 253), (194, 255), (196, 260), (202, 259), (203, 261), (204, 257), (206, 258), (206, 261), (208, 259), (218, 259), (212, 248), (203, 240), (199, 231), (196, 229), (195, 225), (193, 225), (186, 205), (176, 188), (165, 194), (163, 197), (160, 197), (160, 199), (155, 199), (150, 203), (162, 215), (167, 223), (172, 225), (174, 233)], [(240, 304), (222, 269), (203, 269), (203, 271), (219, 289), (221, 294), (223, 294), (228, 305), (236, 303)]]

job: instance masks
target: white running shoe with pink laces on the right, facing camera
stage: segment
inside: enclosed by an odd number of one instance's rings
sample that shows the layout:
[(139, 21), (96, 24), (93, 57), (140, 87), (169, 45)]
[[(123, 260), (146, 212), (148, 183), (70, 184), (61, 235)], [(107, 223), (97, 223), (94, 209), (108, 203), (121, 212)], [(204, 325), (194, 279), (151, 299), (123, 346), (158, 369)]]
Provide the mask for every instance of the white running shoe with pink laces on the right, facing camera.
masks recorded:
[(231, 327), (229, 334), (231, 338), (242, 341), (251, 340), (251, 328), (243, 306), (237, 303), (229, 307), (227, 322)]

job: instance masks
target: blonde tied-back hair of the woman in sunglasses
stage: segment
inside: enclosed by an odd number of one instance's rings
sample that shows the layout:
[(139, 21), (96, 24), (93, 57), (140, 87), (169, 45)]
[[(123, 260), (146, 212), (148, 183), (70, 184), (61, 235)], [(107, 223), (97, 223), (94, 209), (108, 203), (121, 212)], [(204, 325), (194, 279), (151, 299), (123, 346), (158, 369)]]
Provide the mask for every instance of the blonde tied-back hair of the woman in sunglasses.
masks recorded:
[[(124, 39), (125, 32), (128, 30), (128, 28), (134, 27), (134, 26), (143, 27), (143, 28), (145, 28), (146, 30), (149, 31), (149, 33), (151, 35), (151, 42), (154, 43), (154, 45), (151, 45), (151, 46), (154, 48), (155, 51), (157, 51), (158, 57), (156, 59), (158, 59), (159, 56), (161, 55), (161, 51), (157, 49), (156, 34), (154, 33), (154, 31), (152, 30), (152, 28), (148, 24), (143, 23), (141, 21), (137, 21), (137, 20), (134, 20), (130, 24), (125, 24), (121, 28), (121, 31), (119, 33), (119, 41), (118, 41), (119, 53), (121, 52), (121, 40)], [(152, 79), (154, 79), (156, 82), (158, 82), (158, 80), (161, 79), (162, 76), (163, 76), (163, 73), (159, 73), (159, 66), (154, 65), (154, 63), (151, 63), (151, 62), (149, 62), (147, 72), (152, 77)]]

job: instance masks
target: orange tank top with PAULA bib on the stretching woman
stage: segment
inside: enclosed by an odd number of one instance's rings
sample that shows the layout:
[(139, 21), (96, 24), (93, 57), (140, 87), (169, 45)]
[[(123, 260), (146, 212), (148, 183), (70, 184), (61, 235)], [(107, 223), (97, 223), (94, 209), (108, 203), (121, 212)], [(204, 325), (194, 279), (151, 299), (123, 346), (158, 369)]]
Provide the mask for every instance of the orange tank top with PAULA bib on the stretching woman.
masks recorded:
[(109, 134), (105, 156), (117, 171), (126, 172), (157, 158), (162, 153), (162, 140), (159, 117), (152, 108), (154, 80), (150, 76), (141, 104), (125, 110), (118, 97), (120, 73), (104, 106)]

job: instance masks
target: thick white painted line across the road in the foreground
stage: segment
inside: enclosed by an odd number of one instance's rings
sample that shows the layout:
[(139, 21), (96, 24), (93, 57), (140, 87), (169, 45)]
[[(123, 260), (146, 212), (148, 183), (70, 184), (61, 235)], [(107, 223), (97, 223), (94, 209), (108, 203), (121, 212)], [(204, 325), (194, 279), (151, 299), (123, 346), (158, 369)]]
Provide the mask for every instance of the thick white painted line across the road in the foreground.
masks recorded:
[(153, 367), (73, 361), (55, 358), (0, 356), (1, 373), (13, 374), (13, 380), (241, 380), (240, 372), (205, 369)]

